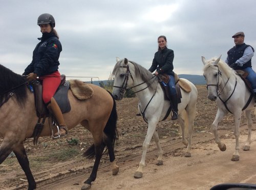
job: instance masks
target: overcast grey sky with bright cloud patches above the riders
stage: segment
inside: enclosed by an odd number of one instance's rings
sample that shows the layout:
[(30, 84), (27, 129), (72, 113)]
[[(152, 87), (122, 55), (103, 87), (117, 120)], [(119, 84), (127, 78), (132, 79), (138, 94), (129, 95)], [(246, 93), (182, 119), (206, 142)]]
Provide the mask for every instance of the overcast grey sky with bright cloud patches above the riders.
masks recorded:
[[(174, 50), (177, 74), (202, 75), (201, 56), (222, 55), (245, 33), (256, 49), (254, 0), (0, 0), (0, 64), (22, 74), (41, 37), (37, 18), (50, 13), (62, 44), (59, 71), (108, 79), (116, 57), (150, 68), (157, 38)], [(253, 69), (256, 58), (252, 58)], [(82, 78), (87, 81), (91, 78)], [(94, 78), (93, 80), (97, 80)]]

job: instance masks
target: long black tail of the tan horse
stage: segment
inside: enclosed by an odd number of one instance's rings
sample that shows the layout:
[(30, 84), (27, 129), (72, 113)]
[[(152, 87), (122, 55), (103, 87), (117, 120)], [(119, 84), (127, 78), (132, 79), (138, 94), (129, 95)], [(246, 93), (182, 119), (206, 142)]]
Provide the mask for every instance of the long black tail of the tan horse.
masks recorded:
[[(109, 91), (108, 91), (109, 92)], [(113, 95), (111, 94), (111, 92), (109, 92), (111, 97), (113, 98), (113, 107), (112, 107), (112, 111), (109, 117), (108, 122), (105, 125), (105, 128), (103, 130), (103, 132), (106, 134), (106, 136), (108, 136), (108, 138), (111, 140), (112, 146), (114, 147), (115, 145), (115, 140), (118, 139), (118, 133), (117, 133), (117, 128), (116, 128), (116, 123), (117, 123), (117, 111), (116, 111), (116, 101), (113, 97)], [(104, 135), (103, 135), (104, 138)], [(102, 150), (105, 148), (105, 143), (102, 140), (102, 144), (101, 144), (101, 148)], [(93, 144), (92, 146), (90, 146), (86, 152), (83, 153), (83, 156), (86, 156), (87, 158), (93, 158), (95, 155), (95, 145)]]

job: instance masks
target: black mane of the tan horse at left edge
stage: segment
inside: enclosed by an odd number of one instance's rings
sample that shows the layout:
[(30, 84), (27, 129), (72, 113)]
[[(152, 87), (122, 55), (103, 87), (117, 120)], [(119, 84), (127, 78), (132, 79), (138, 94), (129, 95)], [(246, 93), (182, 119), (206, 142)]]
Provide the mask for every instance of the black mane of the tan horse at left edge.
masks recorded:
[(26, 78), (23, 78), (21, 75), (14, 73), (0, 64), (0, 105), (7, 100), (10, 92), (13, 92), (13, 96), (20, 105), (25, 103), (27, 98), (27, 87), (26, 85), (21, 84), (25, 84), (26, 81)]

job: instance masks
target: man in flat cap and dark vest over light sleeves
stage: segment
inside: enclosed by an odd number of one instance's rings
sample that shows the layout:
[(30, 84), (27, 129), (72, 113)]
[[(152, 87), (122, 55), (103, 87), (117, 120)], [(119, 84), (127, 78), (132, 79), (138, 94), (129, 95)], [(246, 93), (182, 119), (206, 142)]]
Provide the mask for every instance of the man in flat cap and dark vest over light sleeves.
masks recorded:
[(234, 70), (243, 70), (248, 73), (246, 79), (248, 79), (251, 84), (256, 101), (256, 73), (251, 68), (251, 58), (253, 57), (254, 49), (244, 43), (243, 32), (234, 34), (232, 38), (236, 45), (228, 50), (225, 62)]

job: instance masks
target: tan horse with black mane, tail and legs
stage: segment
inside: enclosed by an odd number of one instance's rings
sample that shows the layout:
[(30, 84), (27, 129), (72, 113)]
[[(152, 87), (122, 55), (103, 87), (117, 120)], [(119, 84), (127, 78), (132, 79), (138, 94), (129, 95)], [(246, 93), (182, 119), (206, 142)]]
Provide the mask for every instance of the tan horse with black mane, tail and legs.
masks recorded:
[[(69, 90), (71, 111), (63, 114), (69, 129), (80, 123), (91, 131), (94, 140), (94, 144), (84, 152), (85, 156), (95, 155), (94, 166), (81, 189), (90, 188), (91, 182), (96, 179), (105, 147), (108, 148), (112, 162), (112, 174), (116, 175), (119, 171), (114, 155), (117, 135), (115, 100), (108, 91), (96, 85), (88, 85), (93, 89), (94, 94), (87, 100), (78, 100)], [(0, 65), (0, 137), (3, 138), (0, 146), (0, 164), (13, 151), (27, 176), (28, 189), (35, 189), (36, 182), (29, 167), (23, 142), (32, 136), (37, 120), (34, 95), (30, 92), (26, 79)], [(48, 120), (47, 118), (41, 136), (51, 134)]]

